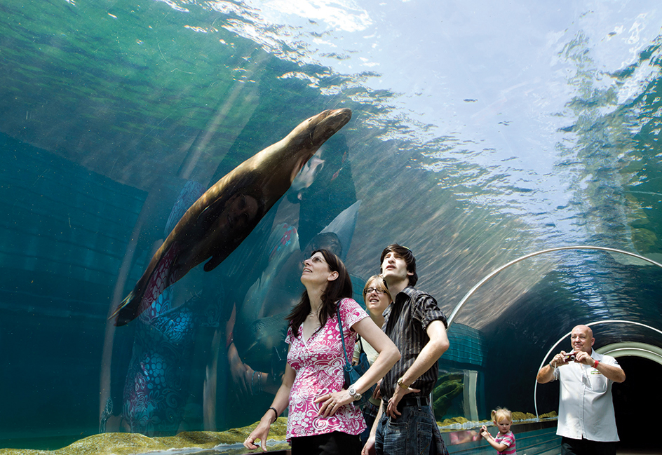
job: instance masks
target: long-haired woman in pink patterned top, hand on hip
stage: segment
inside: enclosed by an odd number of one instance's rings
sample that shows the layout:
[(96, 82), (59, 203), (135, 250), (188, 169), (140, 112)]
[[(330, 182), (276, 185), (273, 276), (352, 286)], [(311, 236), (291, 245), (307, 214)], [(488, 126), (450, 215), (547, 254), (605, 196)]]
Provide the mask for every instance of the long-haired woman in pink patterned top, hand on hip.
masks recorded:
[[(269, 426), (289, 405), (288, 441), (293, 454), (359, 454), (358, 435), (365, 429), (365, 421), (353, 402), (395, 365), (400, 353), (351, 299), (349, 273), (335, 254), (313, 252), (304, 261), (301, 282), (306, 290), (288, 316), (285, 341), (290, 351), (281, 388), (243, 444), (257, 449), (255, 441), (259, 440), (266, 450)], [(356, 383), (344, 388), (345, 355), (351, 358), (357, 333), (379, 355)]]

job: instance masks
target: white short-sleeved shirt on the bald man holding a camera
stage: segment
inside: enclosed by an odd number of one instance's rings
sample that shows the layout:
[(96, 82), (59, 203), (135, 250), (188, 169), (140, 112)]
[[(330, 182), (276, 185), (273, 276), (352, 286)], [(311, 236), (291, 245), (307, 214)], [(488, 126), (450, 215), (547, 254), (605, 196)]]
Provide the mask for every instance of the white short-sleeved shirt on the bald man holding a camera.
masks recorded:
[[(621, 367), (609, 355), (593, 351), (590, 356), (605, 365)], [(556, 368), (554, 379), (560, 379), (557, 435), (602, 442), (619, 440), (612, 402), (614, 381), (592, 365), (576, 362)]]

